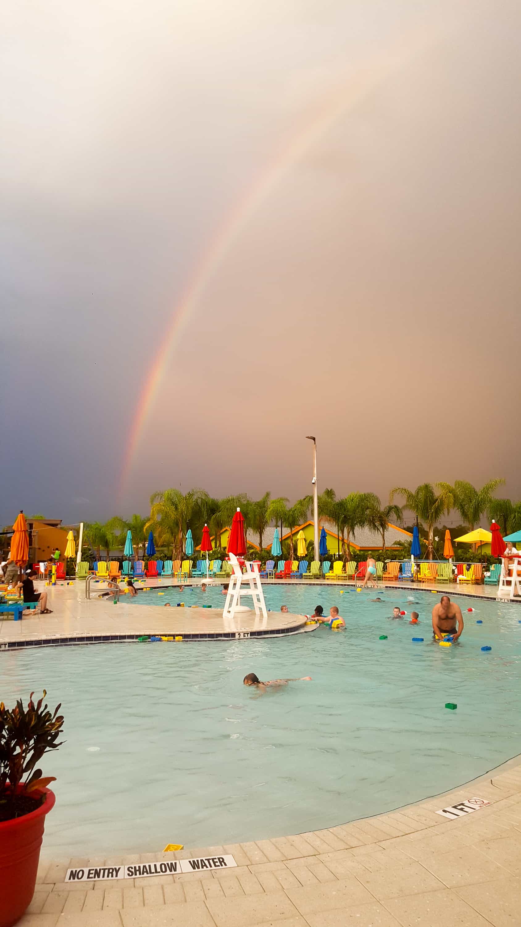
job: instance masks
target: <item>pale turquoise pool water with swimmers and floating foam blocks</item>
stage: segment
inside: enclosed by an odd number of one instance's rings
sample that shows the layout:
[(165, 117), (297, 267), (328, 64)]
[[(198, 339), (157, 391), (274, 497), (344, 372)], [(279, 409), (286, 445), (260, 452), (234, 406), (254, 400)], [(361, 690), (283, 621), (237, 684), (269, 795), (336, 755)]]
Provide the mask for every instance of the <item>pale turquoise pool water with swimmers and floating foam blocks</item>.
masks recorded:
[[(409, 616), (389, 618), (394, 604), (411, 611), (411, 594), (416, 627)], [(339, 633), (0, 654), (7, 704), (44, 687), (49, 705), (63, 705), (67, 743), (42, 761), (57, 777), (47, 855), (330, 827), (437, 794), (520, 753), (521, 609), (462, 597), (462, 642), (440, 648), (431, 640), (434, 595), (380, 595), (385, 603), (371, 603), (373, 592), (267, 587), (273, 609), (284, 602), (309, 613), (322, 603), (328, 612), (338, 603), (347, 624)], [(248, 672), (313, 679), (259, 694), (242, 685)]]

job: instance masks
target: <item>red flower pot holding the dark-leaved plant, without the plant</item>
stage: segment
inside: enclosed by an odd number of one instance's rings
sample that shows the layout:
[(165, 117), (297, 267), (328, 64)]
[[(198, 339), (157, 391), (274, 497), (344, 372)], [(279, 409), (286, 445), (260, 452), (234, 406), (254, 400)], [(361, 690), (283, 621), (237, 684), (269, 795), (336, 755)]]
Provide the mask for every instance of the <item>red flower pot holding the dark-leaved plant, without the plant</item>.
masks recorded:
[(0, 822), (0, 927), (18, 921), (34, 895), (45, 815), (56, 801), (50, 789), (42, 792), (45, 800), (35, 811)]

